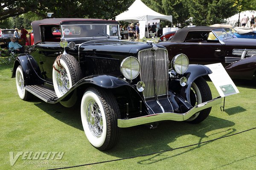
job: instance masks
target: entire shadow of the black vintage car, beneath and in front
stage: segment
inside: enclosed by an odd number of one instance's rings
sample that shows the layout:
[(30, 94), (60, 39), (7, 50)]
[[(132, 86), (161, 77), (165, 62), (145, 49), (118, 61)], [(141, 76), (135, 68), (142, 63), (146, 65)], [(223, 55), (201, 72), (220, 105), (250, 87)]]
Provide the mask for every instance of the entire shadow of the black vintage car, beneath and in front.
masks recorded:
[[(38, 103), (35, 103), (38, 108), (41, 108), (41, 110), (55, 119), (83, 131), (79, 105), (73, 108), (65, 108), (61, 104), (49, 105), (45, 102), (39, 101), (40, 100), (38, 100)], [(160, 122), (158, 127), (153, 130), (150, 130), (145, 125), (121, 128), (119, 140), (116, 146), (111, 150), (103, 151), (103, 153), (119, 158), (126, 158), (159, 152), (162, 150), (170, 150), (175, 148), (175, 146), (172, 147), (172, 143), (177, 144), (178, 142), (179, 147), (185, 145), (183, 144), (184, 142), (182, 138), (186, 138), (187, 135), (198, 136), (198, 141), (189, 142), (189, 144), (199, 143), (201, 141), (206, 141), (209, 136), (211, 136), (210, 139), (212, 139), (213, 135), (220, 137), (234, 133), (236, 131), (235, 129), (232, 129), (234, 125), (234, 122), (214, 116), (208, 116), (206, 120), (195, 125), (189, 124), (188, 122), (164, 121)], [(189, 140), (189, 137), (187, 140)], [(205, 144), (208, 143), (198, 144), (197, 146), (189, 148), (189, 150), (182, 153), (189, 152), (190, 150), (194, 150), (204, 146)], [(182, 153), (179, 153), (178, 155)], [(138, 163), (151, 164), (155, 161), (161, 161), (169, 158), (162, 156), (162, 154), (163, 153), (158, 153), (151, 156), (151, 158)]]

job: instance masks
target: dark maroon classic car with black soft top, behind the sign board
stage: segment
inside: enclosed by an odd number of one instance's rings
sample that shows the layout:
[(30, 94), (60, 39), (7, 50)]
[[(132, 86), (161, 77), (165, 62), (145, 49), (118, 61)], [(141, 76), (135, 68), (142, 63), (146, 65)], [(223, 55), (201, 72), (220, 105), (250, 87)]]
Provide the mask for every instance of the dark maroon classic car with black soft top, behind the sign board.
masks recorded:
[(197, 26), (178, 30), (171, 40), (159, 42), (169, 59), (183, 53), (191, 64), (221, 62), (231, 78), (255, 79), (256, 40), (233, 38), (219, 27)]

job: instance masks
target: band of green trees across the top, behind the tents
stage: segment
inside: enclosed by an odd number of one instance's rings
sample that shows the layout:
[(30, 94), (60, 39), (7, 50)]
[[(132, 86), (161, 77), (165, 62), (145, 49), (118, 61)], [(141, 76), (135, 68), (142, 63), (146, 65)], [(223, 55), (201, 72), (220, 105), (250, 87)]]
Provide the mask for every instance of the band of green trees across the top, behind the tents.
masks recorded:
[[(134, 0), (0, 0), (0, 2), (0, 24), (6, 23), (10, 17), (13, 18), (12, 22), (18, 22), (17, 17), (23, 14), (21, 18), (23, 25), (26, 25), (33, 19), (45, 18), (47, 12), (53, 12), (53, 17), (56, 18), (115, 19), (116, 15), (127, 10)], [(181, 23), (183, 26), (189, 22), (197, 26), (221, 23), (224, 18), (241, 11), (253, 10), (256, 6), (256, 0), (142, 0), (142, 2), (154, 11), (172, 15), (173, 23)]]

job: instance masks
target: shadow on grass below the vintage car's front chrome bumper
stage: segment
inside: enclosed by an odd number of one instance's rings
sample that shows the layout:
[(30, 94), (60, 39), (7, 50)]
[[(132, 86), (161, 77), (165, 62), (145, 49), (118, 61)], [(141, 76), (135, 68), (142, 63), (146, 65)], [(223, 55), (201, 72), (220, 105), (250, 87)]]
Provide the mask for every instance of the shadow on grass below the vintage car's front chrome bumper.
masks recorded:
[[(230, 133), (234, 133), (236, 131), (232, 128), (234, 125), (234, 122), (214, 116), (208, 116), (208, 118), (200, 124), (166, 121), (160, 122), (159, 126), (154, 130), (150, 130), (142, 125), (123, 128), (121, 129), (120, 140), (116, 147), (106, 151), (106, 153), (124, 158), (159, 152), (162, 150), (170, 150), (175, 148), (172, 147), (172, 143), (177, 144), (179, 140), (181, 140), (178, 144), (179, 147), (184, 145), (183, 139), (178, 139), (179, 137), (183, 138), (186, 135), (198, 136), (199, 139), (197, 142), (189, 142), (189, 144), (199, 143), (203, 139), (206, 141), (207, 138), (212, 135), (220, 137), (220, 135), (226, 136)], [(214, 130), (218, 132), (212, 134), (212, 131)], [(211, 132), (211, 134), (208, 134), (209, 132)], [(212, 139), (212, 137), (210, 139)], [(198, 146), (193, 147), (191, 150), (203, 145), (204, 144), (198, 144)], [(159, 154), (161, 155), (162, 153)]]

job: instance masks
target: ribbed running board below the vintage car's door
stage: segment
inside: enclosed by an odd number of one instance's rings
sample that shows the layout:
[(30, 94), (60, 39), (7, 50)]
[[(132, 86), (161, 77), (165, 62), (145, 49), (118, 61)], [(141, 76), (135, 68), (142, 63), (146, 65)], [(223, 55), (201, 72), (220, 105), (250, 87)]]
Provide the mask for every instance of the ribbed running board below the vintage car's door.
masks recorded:
[(58, 99), (55, 91), (50, 90), (44, 85), (27, 85), (25, 86), (26, 91), (37, 96), (44, 102), (52, 101)]

